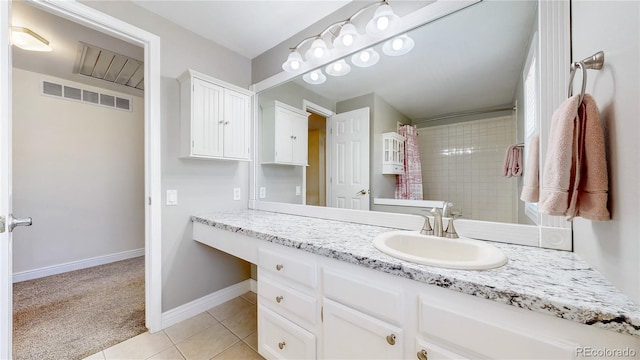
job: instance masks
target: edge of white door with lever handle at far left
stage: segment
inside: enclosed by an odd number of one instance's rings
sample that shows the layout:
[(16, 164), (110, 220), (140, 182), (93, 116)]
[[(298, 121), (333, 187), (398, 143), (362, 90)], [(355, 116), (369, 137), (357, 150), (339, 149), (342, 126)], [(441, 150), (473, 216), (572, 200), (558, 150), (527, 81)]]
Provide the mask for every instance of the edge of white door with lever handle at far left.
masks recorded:
[[(11, 1), (0, 1), (0, 217), (11, 214)], [(11, 233), (0, 224), (0, 359), (11, 359), (12, 265)]]

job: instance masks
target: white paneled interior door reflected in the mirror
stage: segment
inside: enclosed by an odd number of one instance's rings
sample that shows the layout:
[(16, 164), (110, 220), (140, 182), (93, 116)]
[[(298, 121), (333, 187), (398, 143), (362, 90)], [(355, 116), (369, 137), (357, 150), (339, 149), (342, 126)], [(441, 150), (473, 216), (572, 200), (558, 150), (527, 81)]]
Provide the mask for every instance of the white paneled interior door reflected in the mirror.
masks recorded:
[(329, 206), (369, 210), (369, 108), (331, 117)]

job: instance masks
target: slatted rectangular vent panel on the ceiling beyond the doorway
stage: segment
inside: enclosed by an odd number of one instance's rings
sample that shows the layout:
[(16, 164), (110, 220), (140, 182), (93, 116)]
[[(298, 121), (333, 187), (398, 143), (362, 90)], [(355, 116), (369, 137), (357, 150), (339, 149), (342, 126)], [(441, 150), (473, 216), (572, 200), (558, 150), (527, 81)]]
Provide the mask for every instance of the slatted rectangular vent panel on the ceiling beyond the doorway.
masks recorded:
[(144, 62), (80, 43), (74, 73), (144, 90)]

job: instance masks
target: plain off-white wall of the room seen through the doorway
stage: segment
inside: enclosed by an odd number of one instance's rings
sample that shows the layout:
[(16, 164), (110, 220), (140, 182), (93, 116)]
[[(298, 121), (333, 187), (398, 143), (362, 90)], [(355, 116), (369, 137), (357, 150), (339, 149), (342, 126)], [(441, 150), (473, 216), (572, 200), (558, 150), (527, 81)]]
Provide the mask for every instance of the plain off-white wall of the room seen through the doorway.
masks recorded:
[[(133, 111), (41, 95), (42, 80), (132, 99)], [(20, 273), (144, 248), (140, 97), (13, 69), (13, 207)]]

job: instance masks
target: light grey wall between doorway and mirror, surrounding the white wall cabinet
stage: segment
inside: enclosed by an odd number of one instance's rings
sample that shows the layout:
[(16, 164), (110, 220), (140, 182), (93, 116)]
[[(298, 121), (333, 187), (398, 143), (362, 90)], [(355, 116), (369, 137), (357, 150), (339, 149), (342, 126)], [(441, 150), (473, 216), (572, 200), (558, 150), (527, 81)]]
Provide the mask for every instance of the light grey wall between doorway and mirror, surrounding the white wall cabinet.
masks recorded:
[[(162, 189), (163, 194), (167, 189), (178, 190), (178, 205), (162, 209), (162, 310), (248, 279), (248, 263), (192, 239), (190, 216), (246, 208), (250, 163), (178, 158), (180, 96), (176, 78), (191, 68), (248, 88), (250, 60), (131, 2), (85, 4), (160, 37)], [(241, 189), (241, 201), (233, 200), (235, 187)]]

